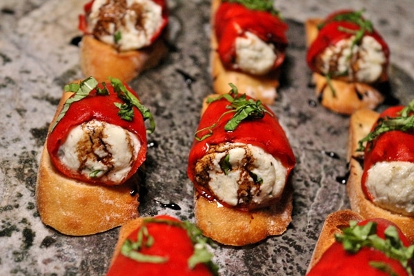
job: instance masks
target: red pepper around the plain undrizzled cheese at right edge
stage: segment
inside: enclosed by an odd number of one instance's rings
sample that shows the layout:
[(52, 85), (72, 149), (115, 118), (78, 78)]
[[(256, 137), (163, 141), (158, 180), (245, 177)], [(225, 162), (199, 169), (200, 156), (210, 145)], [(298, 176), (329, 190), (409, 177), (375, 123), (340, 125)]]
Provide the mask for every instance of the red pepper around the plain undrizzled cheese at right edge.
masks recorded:
[[(404, 106), (394, 106), (386, 109), (380, 118), (395, 118), (400, 116)], [(380, 121), (378, 121), (380, 122)], [(372, 130), (375, 129), (375, 124)], [(377, 162), (381, 161), (408, 161), (414, 162), (414, 133), (413, 130), (391, 130), (382, 133), (373, 141), (368, 142), (364, 151), (364, 172), (362, 174), (362, 190), (368, 199), (373, 200), (373, 196), (366, 188), (366, 178), (368, 170)]]

